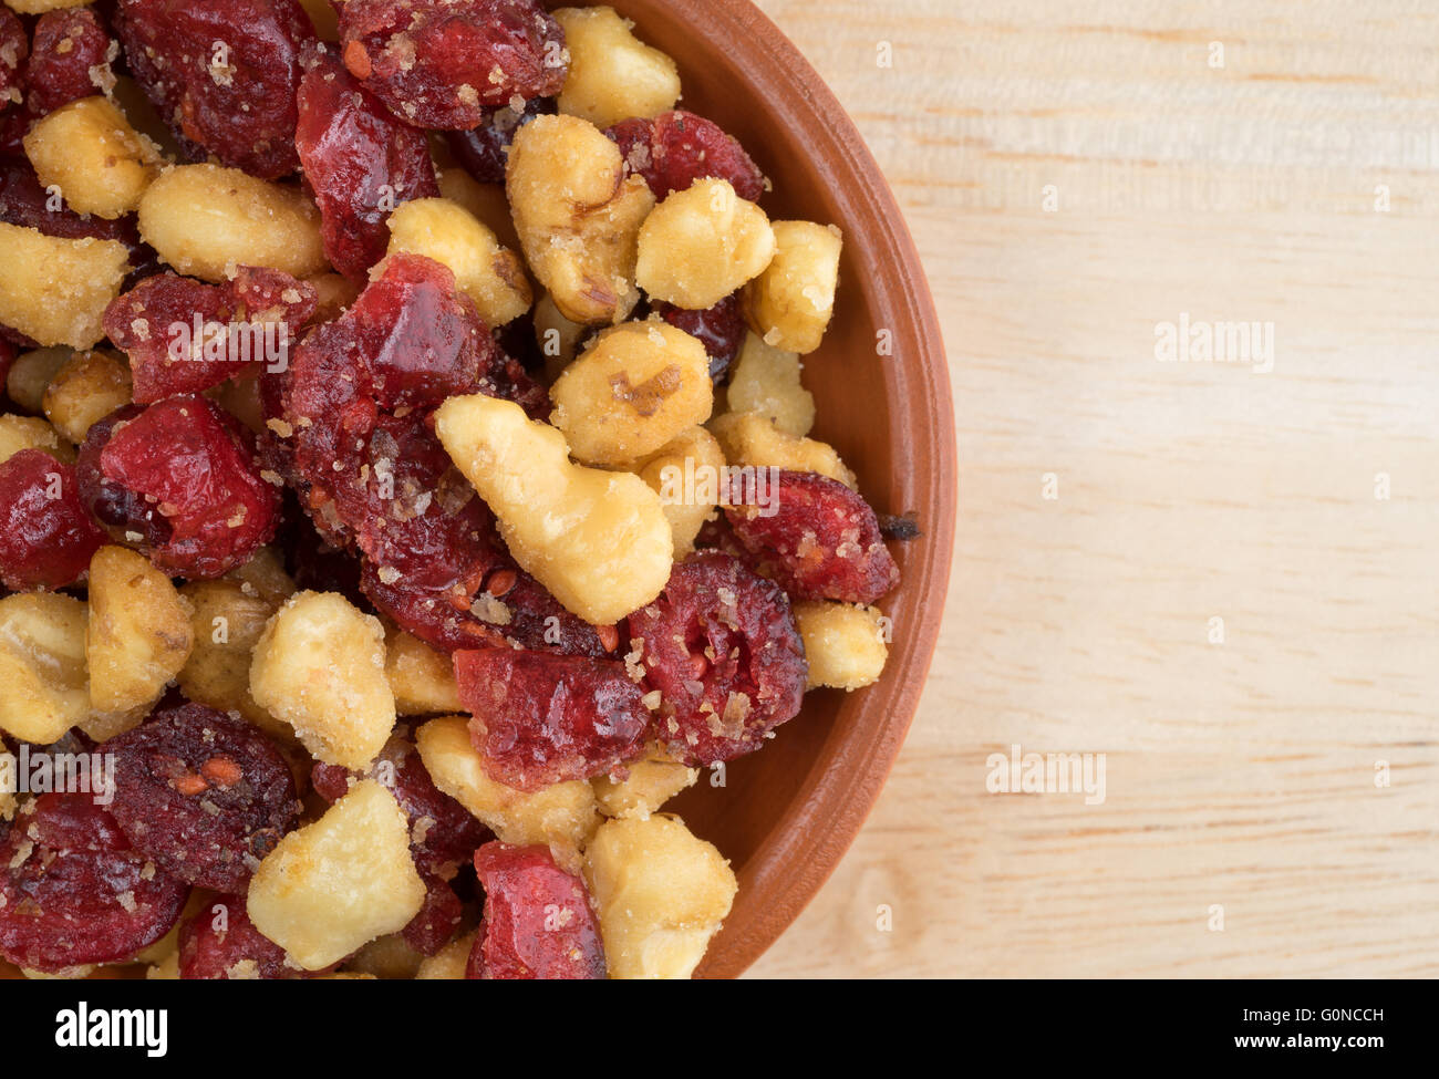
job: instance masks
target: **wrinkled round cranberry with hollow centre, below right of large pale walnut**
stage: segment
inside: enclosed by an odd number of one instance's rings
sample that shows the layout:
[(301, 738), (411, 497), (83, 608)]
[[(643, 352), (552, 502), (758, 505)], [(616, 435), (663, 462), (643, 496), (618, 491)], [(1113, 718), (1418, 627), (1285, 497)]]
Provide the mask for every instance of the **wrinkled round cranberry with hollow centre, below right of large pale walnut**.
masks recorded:
[(686, 764), (754, 752), (800, 711), (809, 665), (789, 598), (737, 558), (691, 555), (629, 627), (661, 692), (655, 729)]

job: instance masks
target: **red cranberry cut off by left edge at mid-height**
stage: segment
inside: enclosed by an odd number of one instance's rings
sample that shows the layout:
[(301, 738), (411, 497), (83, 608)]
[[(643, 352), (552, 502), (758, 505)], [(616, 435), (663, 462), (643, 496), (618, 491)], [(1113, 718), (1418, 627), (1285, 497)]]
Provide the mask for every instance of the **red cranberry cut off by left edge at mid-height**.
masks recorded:
[(63, 588), (105, 542), (81, 502), (75, 468), (24, 449), (0, 462), (0, 583), (14, 591)]

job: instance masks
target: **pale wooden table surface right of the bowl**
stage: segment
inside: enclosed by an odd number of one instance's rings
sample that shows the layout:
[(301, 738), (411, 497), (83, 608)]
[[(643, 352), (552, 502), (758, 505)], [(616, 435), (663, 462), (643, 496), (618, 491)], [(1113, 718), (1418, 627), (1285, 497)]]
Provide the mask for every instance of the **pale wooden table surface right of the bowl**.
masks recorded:
[[(1439, 974), (1439, 7), (760, 4), (904, 206), (961, 465), (914, 731), (753, 974)], [(1016, 744), (1102, 804), (990, 793)]]

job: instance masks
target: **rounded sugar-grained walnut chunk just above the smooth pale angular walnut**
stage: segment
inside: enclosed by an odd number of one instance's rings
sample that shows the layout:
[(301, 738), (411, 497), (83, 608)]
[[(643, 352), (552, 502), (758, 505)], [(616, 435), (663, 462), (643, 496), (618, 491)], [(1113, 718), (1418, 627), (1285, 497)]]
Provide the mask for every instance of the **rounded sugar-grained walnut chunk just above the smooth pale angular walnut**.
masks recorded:
[(380, 620), (332, 593), (292, 596), (255, 645), (250, 693), (318, 760), (364, 768), (394, 727)]

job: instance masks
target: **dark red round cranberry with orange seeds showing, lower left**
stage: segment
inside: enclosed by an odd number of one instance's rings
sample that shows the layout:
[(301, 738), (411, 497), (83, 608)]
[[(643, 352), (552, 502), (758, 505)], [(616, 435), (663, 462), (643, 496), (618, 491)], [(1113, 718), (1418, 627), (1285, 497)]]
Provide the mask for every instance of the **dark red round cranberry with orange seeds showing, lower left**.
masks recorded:
[(299, 820), (279, 750), (213, 708), (158, 712), (105, 748), (115, 754), (115, 820), (137, 850), (187, 883), (245, 891)]

